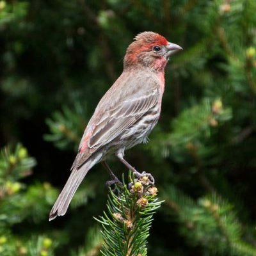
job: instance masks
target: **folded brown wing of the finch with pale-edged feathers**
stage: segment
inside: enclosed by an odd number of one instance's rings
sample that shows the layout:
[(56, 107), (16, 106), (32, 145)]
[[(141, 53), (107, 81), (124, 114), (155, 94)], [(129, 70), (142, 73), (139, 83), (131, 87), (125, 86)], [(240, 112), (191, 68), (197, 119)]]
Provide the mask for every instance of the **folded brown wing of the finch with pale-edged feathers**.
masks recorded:
[[(86, 128), (84, 136), (79, 145), (79, 153), (72, 165), (71, 170), (76, 166), (79, 168), (99, 148), (113, 141), (126, 129), (129, 129), (148, 110), (156, 106), (159, 99), (157, 89), (147, 92), (146, 95), (134, 97), (130, 100), (118, 102), (113, 108), (104, 111), (97, 123)], [(90, 129), (92, 133), (90, 134)], [(88, 134), (90, 134), (88, 136)], [(88, 140), (86, 138), (88, 137)], [(89, 138), (90, 137), (90, 138)], [(87, 150), (82, 152), (86, 143)]]

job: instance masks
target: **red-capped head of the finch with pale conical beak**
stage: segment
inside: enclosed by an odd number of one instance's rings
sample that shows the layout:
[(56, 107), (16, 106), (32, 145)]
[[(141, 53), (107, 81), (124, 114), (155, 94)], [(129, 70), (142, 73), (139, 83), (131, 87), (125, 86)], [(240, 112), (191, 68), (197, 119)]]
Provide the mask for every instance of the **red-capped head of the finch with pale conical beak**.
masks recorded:
[(127, 48), (124, 68), (142, 65), (162, 71), (170, 56), (180, 50), (182, 47), (168, 42), (164, 36), (154, 32), (143, 32), (135, 36), (134, 42)]

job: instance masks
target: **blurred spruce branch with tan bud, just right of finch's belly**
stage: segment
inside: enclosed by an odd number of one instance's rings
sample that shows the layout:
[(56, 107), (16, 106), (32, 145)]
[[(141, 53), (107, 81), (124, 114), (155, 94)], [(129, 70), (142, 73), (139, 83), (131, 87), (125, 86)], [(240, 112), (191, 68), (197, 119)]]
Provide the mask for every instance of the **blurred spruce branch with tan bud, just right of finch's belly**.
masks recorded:
[[(162, 152), (163, 157), (171, 155), (179, 162), (184, 161), (187, 154), (191, 155), (193, 150), (198, 151), (196, 157), (201, 160), (207, 159), (208, 156), (212, 156), (215, 148), (206, 150), (204, 145), (231, 118), (231, 109), (223, 106), (221, 99), (205, 98), (191, 108), (182, 111), (177, 118), (172, 120), (170, 132), (162, 132), (159, 136), (152, 138), (152, 143), (148, 145), (148, 148), (152, 149), (156, 156)], [(154, 143), (155, 141), (157, 143)]]

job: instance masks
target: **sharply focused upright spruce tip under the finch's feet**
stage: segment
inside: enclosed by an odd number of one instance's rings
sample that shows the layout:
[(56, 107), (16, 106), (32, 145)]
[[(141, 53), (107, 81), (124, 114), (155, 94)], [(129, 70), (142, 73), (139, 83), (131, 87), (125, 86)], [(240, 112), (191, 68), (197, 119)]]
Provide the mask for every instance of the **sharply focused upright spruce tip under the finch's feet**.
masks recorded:
[(137, 180), (129, 173), (131, 183), (109, 189), (108, 211), (100, 216), (102, 255), (146, 256), (147, 238), (153, 215), (163, 201), (156, 198), (157, 188), (149, 185), (148, 177)]

